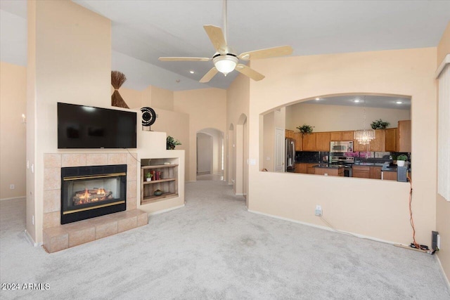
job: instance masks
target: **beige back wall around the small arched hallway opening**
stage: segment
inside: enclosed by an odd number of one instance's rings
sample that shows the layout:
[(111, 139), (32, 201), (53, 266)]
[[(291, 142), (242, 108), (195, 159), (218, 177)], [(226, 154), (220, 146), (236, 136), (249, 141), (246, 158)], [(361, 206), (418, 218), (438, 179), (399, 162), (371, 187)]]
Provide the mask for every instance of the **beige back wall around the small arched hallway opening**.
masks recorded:
[(174, 110), (189, 115), (189, 174), (187, 181), (196, 180), (195, 138), (197, 132), (214, 128), (226, 132), (226, 91), (222, 89), (200, 89), (174, 92)]

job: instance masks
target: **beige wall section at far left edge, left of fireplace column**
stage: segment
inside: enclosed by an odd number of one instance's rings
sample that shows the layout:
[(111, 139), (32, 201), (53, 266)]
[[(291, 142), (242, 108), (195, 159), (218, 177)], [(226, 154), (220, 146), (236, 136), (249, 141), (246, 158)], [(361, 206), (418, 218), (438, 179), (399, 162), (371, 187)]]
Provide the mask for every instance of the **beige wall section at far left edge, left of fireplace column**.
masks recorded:
[(0, 200), (4, 200), (25, 197), (26, 68), (0, 62), (0, 86)]

